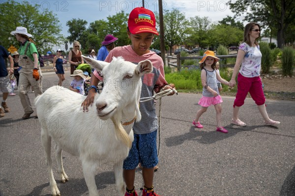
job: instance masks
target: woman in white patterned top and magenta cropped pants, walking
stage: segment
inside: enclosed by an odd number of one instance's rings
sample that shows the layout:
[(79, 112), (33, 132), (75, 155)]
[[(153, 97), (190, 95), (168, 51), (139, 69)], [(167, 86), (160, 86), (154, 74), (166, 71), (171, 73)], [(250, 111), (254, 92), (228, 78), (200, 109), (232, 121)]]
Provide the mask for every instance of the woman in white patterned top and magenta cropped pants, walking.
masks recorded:
[(238, 126), (246, 126), (246, 123), (238, 119), (238, 111), (240, 106), (244, 104), (248, 92), (257, 104), (265, 124), (269, 126), (280, 124), (278, 121), (269, 119), (266, 112), (266, 98), (264, 96), (262, 81), (260, 78), (262, 53), (260, 52), (260, 47), (257, 42), (257, 39), (260, 37), (260, 32), (259, 24), (247, 24), (244, 30), (244, 42), (239, 46), (236, 56), (236, 64), (231, 79), (232, 86), (236, 85), (236, 74), (238, 73), (240, 66), (241, 68), (237, 75), (238, 83), (232, 124)]

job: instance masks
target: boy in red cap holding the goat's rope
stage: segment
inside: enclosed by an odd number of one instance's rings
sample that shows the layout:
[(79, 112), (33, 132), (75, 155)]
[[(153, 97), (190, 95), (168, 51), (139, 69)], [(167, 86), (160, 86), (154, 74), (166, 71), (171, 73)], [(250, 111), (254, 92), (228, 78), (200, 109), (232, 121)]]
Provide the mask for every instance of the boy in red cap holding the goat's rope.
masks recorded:
[[(106, 62), (111, 62), (112, 58), (122, 56), (126, 61), (137, 64), (142, 60), (150, 60), (153, 64), (152, 73), (142, 77), (141, 97), (151, 97), (160, 92), (161, 89), (172, 89), (174, 84), (168, 85), (165, 80), (164, 63), (160, 56), (150, 51), (149, 47), (154, 38), (158, 35), (156, 30), (156, 20), (152, 11), (137, 7), (129, 15), (127, 33), (131, 39), (131, 45), (117, 47), (110, 51)], [(99, 75), (93, 72), (96, 77), (91, 77), (90, 85), (97, 86)], [(173, 95), (172, 93), (171, 95)], [(82, 103), (84, 110), (93, 103), (95, 89), (90, 89), (87, 98)], [(154, 167), (158, 164), (157, 156), (157, 116), (154, 101), (140, 103), (142, 120), (133, 125), (134, 141), (129, 151), (128, 157), (123, 164), (123, 177), (126, 183), (125, 196), (138, 196), (135, 187), (135, 169), (139, 163), (143, 167), (144, 187), (143, 196), (158, 196), (153, 191)]]

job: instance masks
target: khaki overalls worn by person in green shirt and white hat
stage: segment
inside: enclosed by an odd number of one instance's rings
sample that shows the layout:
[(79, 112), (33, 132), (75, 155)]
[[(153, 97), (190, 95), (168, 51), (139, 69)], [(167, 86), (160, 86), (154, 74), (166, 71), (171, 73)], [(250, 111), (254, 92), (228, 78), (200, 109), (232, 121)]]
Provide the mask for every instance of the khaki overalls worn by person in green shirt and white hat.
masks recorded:
[[(22, 69), (19, 71), (20, 78), (19, 78), (19, 87), (18, 87), (18, 94), (21, 98), (21, 103), (23, 105), (25, 113), (32, 113), (34, 110), (31, 106), (28, 92), (30, 90), (30, 87), (32, 87), (32, 90), (35, 92), (35, 96), (41, 95), (42, 92), (42, 73), (39, 67), (39, 75), (40, 79), (36, 81), (36, 79), (33, 78), (33, 68), (34, 68), (34, 62), (32, 62), (29, 57), (26, 59), (22, 59), (23, 56), (26, 55), (20, 55), (20, 61), (19, 64), (22, 66)], [(21, 60), (22, 59), (22, 60)]]

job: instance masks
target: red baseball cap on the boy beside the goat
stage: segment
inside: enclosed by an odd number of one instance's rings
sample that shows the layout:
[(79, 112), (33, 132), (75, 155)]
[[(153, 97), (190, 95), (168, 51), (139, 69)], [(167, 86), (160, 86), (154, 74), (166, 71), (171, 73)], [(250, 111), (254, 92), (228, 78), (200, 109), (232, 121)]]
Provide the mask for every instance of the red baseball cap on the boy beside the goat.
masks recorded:
[(130, 12), (128, 28), (132, 34), (150, 32), (159, 35), (154, 13), (144, 7), (136, 7)]

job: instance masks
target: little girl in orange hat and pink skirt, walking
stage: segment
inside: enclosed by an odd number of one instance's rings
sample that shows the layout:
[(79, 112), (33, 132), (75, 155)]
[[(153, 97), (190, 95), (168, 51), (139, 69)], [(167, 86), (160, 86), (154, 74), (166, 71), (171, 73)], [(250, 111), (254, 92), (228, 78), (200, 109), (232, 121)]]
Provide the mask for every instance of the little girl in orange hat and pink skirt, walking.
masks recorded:
[(216, 74), (215, 66), (218, 60), (219, 58), (214, 55), (213, 51), (207, 50), (204, 53), (202, 60), (199, 62), (203, 85), (203, 96), (199, 100), (199, 105), (201, 105), (202, 108), (198, 110), (193, 124), (197, 128), (203, 128), (204, 126), (199, 122), (199, 119), (201, 115), (207, 111), (207, 108), (210, 105), (214, 105), (216, 110), (216, 131), (228, 133), (228, 130), (221, 126), (222, 98), (219, 95), (217, 80), (226, 85), (230, 85), (230, 83), (223, 79), (219, 74)]

